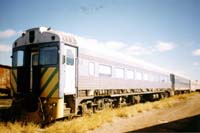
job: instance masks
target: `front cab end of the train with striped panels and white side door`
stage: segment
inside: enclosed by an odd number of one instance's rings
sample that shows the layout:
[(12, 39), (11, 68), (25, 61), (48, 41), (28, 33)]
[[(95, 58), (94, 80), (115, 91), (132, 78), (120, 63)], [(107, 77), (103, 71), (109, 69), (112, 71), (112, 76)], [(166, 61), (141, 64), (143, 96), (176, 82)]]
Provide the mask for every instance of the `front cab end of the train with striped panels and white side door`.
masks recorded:
[(71, 36), (43, 27), (27, 30), (15, 41), (11, 70), (15, 112), (20, 108), (24, 113), (20, 115), (35, 113), (34, 121), (66, 116), (66, 108), (75, 103), (78, 50), (74, 44)]

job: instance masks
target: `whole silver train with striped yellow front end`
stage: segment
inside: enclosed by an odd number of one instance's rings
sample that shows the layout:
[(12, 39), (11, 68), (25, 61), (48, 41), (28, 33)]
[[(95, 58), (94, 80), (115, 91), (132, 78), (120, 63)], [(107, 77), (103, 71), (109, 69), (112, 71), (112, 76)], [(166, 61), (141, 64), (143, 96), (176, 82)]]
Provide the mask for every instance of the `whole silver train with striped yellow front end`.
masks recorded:
[(29, 29), (13, 44), (13, 103), (21, 109), (16, 112), (32, 112), (36, 121), (159, 99), (173, 95), (174, 88), (187, 89), (188, 80), (149, 65), (92, 54), (79, 49), (73, 35), (50, 28)]

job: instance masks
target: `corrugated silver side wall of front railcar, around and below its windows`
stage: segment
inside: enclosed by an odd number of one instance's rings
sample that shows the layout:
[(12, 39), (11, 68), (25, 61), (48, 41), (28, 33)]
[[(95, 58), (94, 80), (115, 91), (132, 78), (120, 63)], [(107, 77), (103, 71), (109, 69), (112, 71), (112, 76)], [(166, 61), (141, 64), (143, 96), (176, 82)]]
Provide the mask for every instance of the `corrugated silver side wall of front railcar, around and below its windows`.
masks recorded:
[[(95, 63), (95, 74), (89, 75), (88, 63)], [(146, 89), (146, 88), (171, 88), (170, 82), (156, 82), (147, 80), (128, 80), (126, 78), (114, 77), (114, 71), (112, 70), (111, 76), (102, 76), (98, 73), (98, 65), (105, 64), (112, 68), (120, 67), (127, 69), (134, 69), (134, 66), (126, 65), (123, 63), (116, 63), (102, 58), (96, 58), (94, 56), (82, 55), (79, 56), (79, 90), (95, 90), (95, 89)], [(140, 70), (140, 68), (137, 68)], [(148, 72), (147, 70), (141, 69), (142, 72)], [(154, 74), (154, 72), (149, 72)], [(159, 74), (155, 72), (155, 74)], [(161, 74), (163, 75), (163, 74)], [(169, 76), (169, 75), (165, 75)]]

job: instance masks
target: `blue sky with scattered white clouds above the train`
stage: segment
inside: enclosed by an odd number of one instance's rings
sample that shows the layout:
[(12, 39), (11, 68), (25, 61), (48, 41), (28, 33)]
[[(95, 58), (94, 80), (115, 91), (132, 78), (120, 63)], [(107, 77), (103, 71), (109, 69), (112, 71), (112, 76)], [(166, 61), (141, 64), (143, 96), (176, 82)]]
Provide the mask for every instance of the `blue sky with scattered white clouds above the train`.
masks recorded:
[(12, 42), (38, 26), (200, 80), (199, 0), (1, 0), (0, 64), (10, 65)]

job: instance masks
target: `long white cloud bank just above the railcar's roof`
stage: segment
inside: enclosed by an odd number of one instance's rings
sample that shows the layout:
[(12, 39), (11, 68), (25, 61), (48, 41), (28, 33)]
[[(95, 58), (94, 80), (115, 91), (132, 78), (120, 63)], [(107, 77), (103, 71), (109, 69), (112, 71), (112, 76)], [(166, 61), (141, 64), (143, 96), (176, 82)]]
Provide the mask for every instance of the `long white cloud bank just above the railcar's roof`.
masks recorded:
[(111, 51), (123, 53), (129, 56), (150, 55), (158, 52), (166, 52), (174, 49), (174, 43), (158, 41), (155, 45), (144, 46), (143, 43), (137, 42), (133, 45), (128, 45), (118, 41), (100, 42), (96, 39), (76, 36), (80, 48), (86, 48), (92, 51), (109, 53)]

